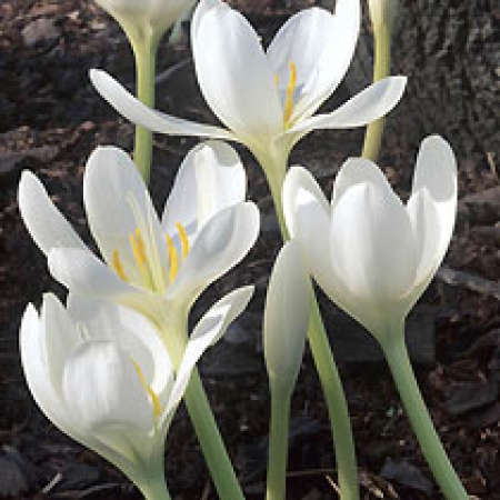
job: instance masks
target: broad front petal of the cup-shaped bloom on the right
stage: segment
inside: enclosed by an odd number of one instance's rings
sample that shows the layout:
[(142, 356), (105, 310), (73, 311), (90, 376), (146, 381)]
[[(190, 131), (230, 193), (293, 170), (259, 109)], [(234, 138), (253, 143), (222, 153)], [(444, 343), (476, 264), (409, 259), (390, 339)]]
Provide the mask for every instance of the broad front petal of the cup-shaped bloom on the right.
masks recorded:
[(332, 266), (356, 308), (348, 312), (380, 333), (414, 284), (419, 256), (404, 207), (374, 184), (350, 188), (333, 208), (330, 244)]

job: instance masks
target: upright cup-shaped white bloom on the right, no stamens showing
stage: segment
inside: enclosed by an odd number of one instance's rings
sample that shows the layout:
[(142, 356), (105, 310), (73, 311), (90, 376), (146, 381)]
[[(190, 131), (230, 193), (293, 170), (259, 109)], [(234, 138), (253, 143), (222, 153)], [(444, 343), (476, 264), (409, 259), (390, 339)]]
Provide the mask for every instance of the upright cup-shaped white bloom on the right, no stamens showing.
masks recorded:
[(406, 318), (448, 249), (457, 211), (456, 159), (443, 139), (427, 138), (407, 204), (368, 160), (342, 166), (331, 204), (312, 176), (294, 167), (284, 181), (283, 204), (317, 282), (380, 339)]

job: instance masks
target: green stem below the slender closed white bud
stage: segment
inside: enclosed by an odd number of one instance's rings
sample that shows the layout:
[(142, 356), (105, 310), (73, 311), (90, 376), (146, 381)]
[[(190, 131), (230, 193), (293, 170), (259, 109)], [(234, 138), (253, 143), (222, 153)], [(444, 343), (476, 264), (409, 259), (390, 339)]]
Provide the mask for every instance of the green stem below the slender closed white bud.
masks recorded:
[(273, 387), (271, 383), (267, 500), (286, 498), (291, 392), (290, 388)]

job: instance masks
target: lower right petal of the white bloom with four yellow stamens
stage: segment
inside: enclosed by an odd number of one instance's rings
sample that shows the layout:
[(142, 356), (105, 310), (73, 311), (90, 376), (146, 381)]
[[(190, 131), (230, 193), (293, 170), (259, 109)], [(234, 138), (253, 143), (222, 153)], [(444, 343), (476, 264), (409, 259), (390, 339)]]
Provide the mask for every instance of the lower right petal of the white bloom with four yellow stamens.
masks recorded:
[(194, 300), (248, 253), (259, 229), (259, 210), (252, 202), (219, 212), (201, 230), (167, 297), (182, 297), (188, 303)]

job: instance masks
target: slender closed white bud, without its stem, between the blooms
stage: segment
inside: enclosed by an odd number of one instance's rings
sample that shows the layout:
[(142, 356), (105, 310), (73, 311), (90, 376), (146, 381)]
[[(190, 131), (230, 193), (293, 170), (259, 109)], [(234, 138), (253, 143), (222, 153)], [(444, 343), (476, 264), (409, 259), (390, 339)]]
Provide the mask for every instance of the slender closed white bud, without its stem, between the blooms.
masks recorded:
[(300, 247), (289, 241), (278, 254), (266, 298), (263, 350), (272, 383), (293, 387), (309, 323), (311, 284)]

